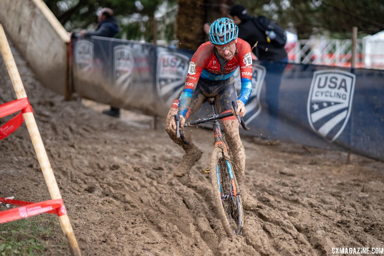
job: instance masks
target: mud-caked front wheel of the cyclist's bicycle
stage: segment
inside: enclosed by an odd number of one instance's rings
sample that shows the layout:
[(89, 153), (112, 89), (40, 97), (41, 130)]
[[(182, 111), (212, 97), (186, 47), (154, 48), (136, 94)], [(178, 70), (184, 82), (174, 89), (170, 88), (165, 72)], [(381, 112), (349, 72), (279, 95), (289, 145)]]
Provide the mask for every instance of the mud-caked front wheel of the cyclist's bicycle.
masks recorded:
[[(232, 237), (233, 235), (242, 235), (244, 212), (240, 195), (236, 195), (236, 197), (233, 195), (233, 186), (230, 182), (226, 161), (228, 160), (225, 159), (223, 149), (215, 147), (212, 151), (210, 164), (210, 176), (214, 193), (215, 208), (225, 232), (228, 236)], [(219, 174), (217, 174), (217, 168)], [(234, 173), (233, 178), (235, 186), (238, 188)]]

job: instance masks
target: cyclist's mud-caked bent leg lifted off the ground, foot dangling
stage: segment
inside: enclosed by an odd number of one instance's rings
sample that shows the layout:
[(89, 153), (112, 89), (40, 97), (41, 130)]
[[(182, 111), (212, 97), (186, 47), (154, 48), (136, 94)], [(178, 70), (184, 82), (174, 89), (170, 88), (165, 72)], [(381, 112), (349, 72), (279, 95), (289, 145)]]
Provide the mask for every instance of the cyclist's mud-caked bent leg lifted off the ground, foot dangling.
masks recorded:
[(190, 168), (195, 165), (195, 163), (200, 159), (201, 157), (201, 150), (195, 146), (192, 142), (192, 136), (187, 130), (184, 130), (184, 136), (187, 141), (189, 141), (189, 145), (185, 145), (180, 138), (176, 138), (176, 132), (174, 132), (170, 127), (170, 121), (174, 119), (175, 114), (177, 114), (177, 109), (172, 108), (169, 110), (166, 120), (166, 131), (172, 139), (173, 142), (180, 145), (184, 151), (185, 155), (183, 156), (183, 159), (181, 160), (180, 164), (177, 165), (176, 170), (174, 172), (175, 177), (182, 177), (185, 174), (189, 174)]

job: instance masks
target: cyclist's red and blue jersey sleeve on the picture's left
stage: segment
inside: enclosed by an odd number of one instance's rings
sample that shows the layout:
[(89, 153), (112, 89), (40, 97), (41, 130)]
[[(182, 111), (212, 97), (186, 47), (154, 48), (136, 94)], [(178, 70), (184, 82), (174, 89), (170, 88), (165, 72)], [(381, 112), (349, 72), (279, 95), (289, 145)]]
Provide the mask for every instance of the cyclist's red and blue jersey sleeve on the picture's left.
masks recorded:
[(204, 59), (204, 50), (200, 46), (197, 51), (192, 56), (191, 61), (189, 62), (188, 74), (185, 78), (184, 88), (180, 95), (179, 107), (177, 114), (184, 116), (187, 114), (189, 104), (192, 99), (192, 94), (195, 91), (197, 81), (199, 81), (200, 74), (205, 68), (205, 59)]

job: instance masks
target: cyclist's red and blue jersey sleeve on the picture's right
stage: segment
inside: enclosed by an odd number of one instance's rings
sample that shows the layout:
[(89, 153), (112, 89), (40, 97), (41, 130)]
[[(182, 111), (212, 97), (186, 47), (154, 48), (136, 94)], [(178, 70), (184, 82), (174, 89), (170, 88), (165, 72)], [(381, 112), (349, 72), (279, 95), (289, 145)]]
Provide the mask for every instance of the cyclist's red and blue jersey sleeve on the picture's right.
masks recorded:
[(252, 56), (251, 46), (241, 40), (238, 47), (241, 89), (238, 100), (247, 103), (252, 92)]

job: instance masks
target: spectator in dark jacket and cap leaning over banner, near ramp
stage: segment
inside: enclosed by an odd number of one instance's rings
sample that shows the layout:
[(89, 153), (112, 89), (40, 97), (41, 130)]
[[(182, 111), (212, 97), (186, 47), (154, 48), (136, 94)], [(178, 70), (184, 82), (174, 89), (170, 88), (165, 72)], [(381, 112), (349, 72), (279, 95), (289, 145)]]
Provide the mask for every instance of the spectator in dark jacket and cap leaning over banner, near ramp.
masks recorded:
[[(81, 30), (80, 35), (114, 37), (120, 31), (119, 22), (113, 16), (113, 11), (109, 8), (101, 9), (98, 15), (98, 22), (99, 24), (95, 31)], [(118, 107), (111, 106), (111, 109), (103, 110), (103, 113), (113, 117), (120, 117), (120, 109)]]

